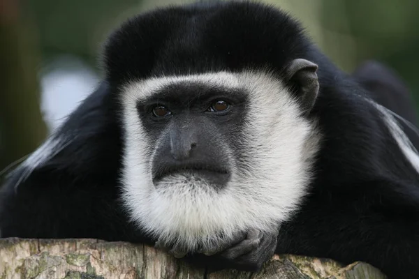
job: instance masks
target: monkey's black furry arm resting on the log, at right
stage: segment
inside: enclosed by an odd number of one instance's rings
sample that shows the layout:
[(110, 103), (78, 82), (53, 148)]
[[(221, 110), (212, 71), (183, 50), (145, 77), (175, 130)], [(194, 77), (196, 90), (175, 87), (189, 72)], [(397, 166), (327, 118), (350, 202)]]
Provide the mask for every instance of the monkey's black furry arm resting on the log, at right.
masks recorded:
[(277, 253), (368, 262), (419, 278), (419, 190), (383, 179), (316, 192), (281, 227)]

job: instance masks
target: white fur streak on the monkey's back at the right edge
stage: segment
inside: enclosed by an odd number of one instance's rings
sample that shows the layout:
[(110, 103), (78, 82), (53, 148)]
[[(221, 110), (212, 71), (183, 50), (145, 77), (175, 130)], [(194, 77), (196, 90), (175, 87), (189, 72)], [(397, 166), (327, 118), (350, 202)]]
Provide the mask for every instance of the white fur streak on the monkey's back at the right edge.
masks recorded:
[[(409, 137), (407, 137), (406, 133), (404, 133), (404, 131), (402, 130), (402, 127), (399, 125), (398, 121), (395, 119), (395, 116), (397, 116), (397, 118), (399, 119), (402, 119), (403, 121), (406, 121), (406, 120), (403, 119), (401, 116), (398, 116), (397, 114), (395, 114), (395, 112), (388, 110), (388, 108), (383, 107), (382, 105), (379, 105), (378, 103), (374, 102), (373, 100), (370, 100), (370, 99), (367, 99), (367, 100), (369, 101), (369, 103), (374, 105), (374, 107), (376, 107), (376, 109), (381, 113), (381, 115), (383, 116), (383, 121), (385, 122), (385, 125), (388, 126), (388, 129), (390, 130), (392, 137), (396, 140), (397, 145), (399, 146), (400, 150), (402, 151), (404, 156), (407, 158), (407, 160), (409, 160), (409, 163), (411, 163), (413, 168), (416, 169), (416, 172), (419, 173), (419, 153), (416, 150), (415, 146), (413, 146), (413, 144), (409, 140)], [(409, 122), (406, 121), (406, 123), (409, 123)], [(413, 130), (416, 130), (416, 129), (413, 129)]]

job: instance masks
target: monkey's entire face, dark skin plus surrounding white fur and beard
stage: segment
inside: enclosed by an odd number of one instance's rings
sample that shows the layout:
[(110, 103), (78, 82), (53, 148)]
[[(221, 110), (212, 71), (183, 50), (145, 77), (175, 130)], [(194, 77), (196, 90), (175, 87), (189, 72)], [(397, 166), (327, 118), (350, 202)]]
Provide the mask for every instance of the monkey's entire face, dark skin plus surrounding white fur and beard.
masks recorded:
[(300, 204), (318, 137), (273, 75), (139, 80), (122, 103), (124, 202), (161, 240), (194, 251), (276, 229)]

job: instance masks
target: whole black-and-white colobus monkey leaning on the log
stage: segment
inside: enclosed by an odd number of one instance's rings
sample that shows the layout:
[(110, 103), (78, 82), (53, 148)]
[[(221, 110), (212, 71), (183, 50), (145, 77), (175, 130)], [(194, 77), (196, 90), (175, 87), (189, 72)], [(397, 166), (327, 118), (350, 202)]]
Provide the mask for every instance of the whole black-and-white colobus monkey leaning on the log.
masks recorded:
[(419, 278), (419, 156), (286, 13), (133, 17), (98, 89), (2, 188), (3, 237), (149, 243), (256, 271), (273, 253)]

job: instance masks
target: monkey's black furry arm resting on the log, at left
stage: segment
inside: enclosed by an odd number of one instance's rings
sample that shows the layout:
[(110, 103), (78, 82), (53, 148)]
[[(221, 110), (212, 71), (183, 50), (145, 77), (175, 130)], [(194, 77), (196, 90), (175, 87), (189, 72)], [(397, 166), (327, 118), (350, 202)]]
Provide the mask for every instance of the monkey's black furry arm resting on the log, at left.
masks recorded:
[(122, 216), (106, 186), (36, 171), (15, 188), (19, 174), (1, 190), (2, 237), (112, 240), (123, 235)]

